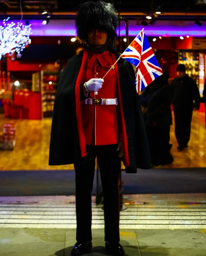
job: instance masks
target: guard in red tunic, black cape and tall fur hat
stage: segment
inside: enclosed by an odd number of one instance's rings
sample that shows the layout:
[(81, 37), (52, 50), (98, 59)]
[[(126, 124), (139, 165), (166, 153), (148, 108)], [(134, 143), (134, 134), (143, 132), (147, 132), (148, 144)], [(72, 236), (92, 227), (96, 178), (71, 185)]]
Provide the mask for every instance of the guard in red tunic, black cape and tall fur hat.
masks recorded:
[(119, 243), (120, 156), (126, 173), (151, 168), (132, 65), (120, 59), (102, 79), (120, 56), (107, 47), (116, 35), (117, 22), (109, 3), (90, 1), (80, 6), (75, 24), (87, 47), (69, 60), (55, 97), (49, 165), (74, 164), (77, 243), (72, 255), (92, 250), (96, 156), (104, 194), (105, 246), (110, 255), (124, 255)]

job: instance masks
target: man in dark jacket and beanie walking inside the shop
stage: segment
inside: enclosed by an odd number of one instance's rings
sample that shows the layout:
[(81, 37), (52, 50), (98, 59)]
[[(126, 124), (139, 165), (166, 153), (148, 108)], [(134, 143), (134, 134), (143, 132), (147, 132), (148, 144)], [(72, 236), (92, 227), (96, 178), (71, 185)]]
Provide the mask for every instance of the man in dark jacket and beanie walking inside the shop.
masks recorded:
[(178, 150), (188, 147), (191, 133), (193, 110), (200, 108), (200, 92), (196, 82), (186, 74), (184, 64), (177, 66), (177, 78), (171, 83), (173, 89), (173, 110), (175, 116), (175, 136)]

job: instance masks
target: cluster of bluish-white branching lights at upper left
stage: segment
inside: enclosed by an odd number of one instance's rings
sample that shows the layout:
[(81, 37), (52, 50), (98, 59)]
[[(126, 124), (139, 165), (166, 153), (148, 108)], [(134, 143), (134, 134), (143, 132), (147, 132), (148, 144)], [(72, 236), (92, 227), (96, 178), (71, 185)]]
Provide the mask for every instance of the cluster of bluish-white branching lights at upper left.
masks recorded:
[(9, 18), (3, 20), (3, 26), (0, 26), (0, 60), (1, 56), (6, 53), (23, 51), (28, 45), (29, 35), (31, 32), (31, 24), (23, 25), (18, 22), (15, 24), (7, 23)]

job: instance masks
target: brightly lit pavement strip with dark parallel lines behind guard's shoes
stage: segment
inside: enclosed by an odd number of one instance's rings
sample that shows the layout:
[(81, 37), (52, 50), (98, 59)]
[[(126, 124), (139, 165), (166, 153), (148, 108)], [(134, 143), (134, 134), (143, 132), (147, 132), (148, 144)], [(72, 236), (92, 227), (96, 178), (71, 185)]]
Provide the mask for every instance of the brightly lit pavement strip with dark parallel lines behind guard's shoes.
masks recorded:
[[(120, 212), (122, 229), (206, 229), (205, 194), (125, 195), (124, 201), (134, 204)], [(74, 196), (1, 197), (0, 227), (75, 228), (74, 202)], [(92, 228), (104, 228), (101, 205), (93, 203), (92, 214)]]

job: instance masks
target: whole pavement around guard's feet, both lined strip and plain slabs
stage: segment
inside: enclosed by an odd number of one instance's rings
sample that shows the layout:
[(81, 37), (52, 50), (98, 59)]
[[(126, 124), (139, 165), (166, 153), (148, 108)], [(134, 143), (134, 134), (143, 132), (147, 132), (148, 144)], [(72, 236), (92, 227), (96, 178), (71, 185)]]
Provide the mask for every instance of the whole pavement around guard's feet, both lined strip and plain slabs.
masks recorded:
[[(93, 202), (95, 198), (92, 198)], [(0, 256), (69, 256), (75, 197), (1, 197)], [(205, 256), (206, 195), (128, 195), (120, 214), (126, 256)], [(144, 204), (143, 204), (144, 203)], [(101, 206), (92, 204), (93, 252), (106, 255)]]

